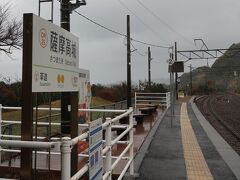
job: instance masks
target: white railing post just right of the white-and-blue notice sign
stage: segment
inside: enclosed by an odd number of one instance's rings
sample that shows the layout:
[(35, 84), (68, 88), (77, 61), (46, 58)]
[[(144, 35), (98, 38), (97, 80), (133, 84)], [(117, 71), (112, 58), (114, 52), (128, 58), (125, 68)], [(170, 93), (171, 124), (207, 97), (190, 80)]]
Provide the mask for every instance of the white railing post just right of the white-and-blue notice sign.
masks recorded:
[(111, 125), (111, 118), (106, 118), (106, 121), (109, 122), (108, 126), (106, 127), (106, 146), (109, 147), (109, 150), (106, 153), (106, 172), (110, 171), (107, 180), (112, 179), (112, 125)]

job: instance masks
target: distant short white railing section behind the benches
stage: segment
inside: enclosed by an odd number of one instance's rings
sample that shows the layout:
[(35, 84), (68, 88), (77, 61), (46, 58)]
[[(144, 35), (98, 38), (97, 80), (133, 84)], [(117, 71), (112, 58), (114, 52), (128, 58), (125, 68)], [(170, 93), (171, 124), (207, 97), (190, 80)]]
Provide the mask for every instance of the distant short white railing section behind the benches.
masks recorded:
[(135, 92), (135, 109), (139, 106), (147, 106), (149, 104), (155, 104), (169, 108), (171, 104), (170, 92), (167, 93)]

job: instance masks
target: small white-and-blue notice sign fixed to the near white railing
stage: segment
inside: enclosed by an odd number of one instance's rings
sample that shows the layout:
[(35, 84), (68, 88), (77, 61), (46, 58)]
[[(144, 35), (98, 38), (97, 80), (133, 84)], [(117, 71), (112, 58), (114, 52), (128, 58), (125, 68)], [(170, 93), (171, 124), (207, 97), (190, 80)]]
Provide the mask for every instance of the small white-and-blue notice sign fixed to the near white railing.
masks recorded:
[(100, 118), (89, 125), (89, 180), (101, 180), (102, 174), (102, 119)]

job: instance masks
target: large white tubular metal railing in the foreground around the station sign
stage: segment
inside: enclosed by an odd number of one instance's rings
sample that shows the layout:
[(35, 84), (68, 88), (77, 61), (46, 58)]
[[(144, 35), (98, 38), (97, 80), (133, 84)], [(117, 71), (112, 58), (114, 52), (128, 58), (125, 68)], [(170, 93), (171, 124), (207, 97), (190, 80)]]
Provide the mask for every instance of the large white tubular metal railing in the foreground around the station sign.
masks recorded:
[[(50, 154), (61, 155), (61, 179), (62, 180), (75, 180), (81, 178), (85, 173), (88, 172), (88, 164), (85, 164), (83, 168), (81, 168), (75, 175), (71, 177), (71, 149), (73, 146), (76, 146), (79, 141), (86, 140), (88, 138), (88, 132), (85, 132), (78, 137), (70, 139), (69, 137), (60, 138), (51, 138), (54, 142), (37, 142), (37, 141), (20, 141), (20, 140), (2, 140), (2, 138), (12, 138), (12, 139), (20, 139), (21, 136), (18, 135), (5, 135), (2, 134), (2, 125), (11, 123), (15, 125), (20, 125), (21, 121), (10, 121), (2, 119), (2, 110), (20, 110), (21, 107), (4, 107), (0, 104), (0, 162), (1, 162), (1, 153), (2, 152), (20, 152), (19, 149), (4, 149), (1, 146), (9, 146), (9, 147), (28, 147), (35, 148), (37, 153), (39, 154), (47, 154), (48, 152), (42, 152), (40, 149), (50, 149), (56, 148), (59, 149), (60, 152), (50, 152)], [(49, 108), (38, 108), (38, 110), (49, 110)], [(60, 111), (60, 108), (52, 108), (53, 111)], [(79, 111), (85, 112), (112, 112), (112, 113), (121, 113), (117, 117), (111, 119), (106, 118), (106, 121), (102, 124), (102, 128), (105, 129), (105, 140), (103, 140), (105, 146), (102, 151), (102, 156), (105, 158), (105, 172), (103, 173), (102, 179), (111, 179), (111, 175), (117, 164), (122, 160), (127, 160), (127, 164), (122, 170), (119, 180), (123, 178), (126, 171), (129, 169), (130, 174), (133, 175), (134, 167), (133, 167), (133, 108), (129, 108), (128, 110), (107, 110), (107, 109), (79, 109)], [(124, 125), (115, 125), (115, 122), (119, 121), (122, 118), (129, 118), (129, 124)], [(38, 124), (49, 125), (46, 122), (38, 122)], [(60, 126), (60, 123), (51, 123), (52, 126)], [(79, 127), (88, 127), (88, 124), (79, 124)], [(112, 137), (112, 128), (124, 129), (124, 131), (115, 139)], [(129, 134), (128, 141), (121, 141), (121, 139)], [(35, 137), (34, 137), (35, 138)], [(37, 139), (44, 139), (46, 137), (37, 137)], [(126, 144), (127, 146), (121, 152), (119, 156), (112, 156), (112, 147), (116, 144)], [(38, 150), (39, 149), (39, 150)], [(129, 152), (129, 154), (127, 154)], [(78, 154), (81, 157), (88, 157), (88, 154)], [(115, 159), (114, 163), (112, 163), (112, 159)]]

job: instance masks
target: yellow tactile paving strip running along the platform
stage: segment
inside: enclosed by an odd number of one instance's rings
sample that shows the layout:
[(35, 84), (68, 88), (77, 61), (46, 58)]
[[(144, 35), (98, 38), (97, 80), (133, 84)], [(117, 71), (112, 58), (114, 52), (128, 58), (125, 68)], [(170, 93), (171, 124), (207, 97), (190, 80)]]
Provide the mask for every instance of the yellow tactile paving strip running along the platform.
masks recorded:
[(186, 103), (182, 103), (180, 121), (188, 180), (213, 180), (190, 123)]

